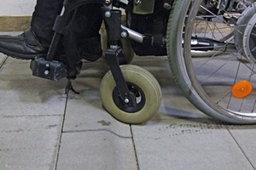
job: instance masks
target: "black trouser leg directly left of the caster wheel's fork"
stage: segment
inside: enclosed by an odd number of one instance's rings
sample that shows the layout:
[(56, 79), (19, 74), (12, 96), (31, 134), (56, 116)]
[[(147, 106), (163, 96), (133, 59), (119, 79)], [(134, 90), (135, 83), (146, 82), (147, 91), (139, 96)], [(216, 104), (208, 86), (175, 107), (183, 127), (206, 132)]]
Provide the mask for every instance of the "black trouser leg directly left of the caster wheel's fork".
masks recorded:
[(78, 8), (73, 20), (79, 55), (83, 59), (95, 61), (102, 56), (99, 31), (102, 26), (102, 7), (88, 4)]

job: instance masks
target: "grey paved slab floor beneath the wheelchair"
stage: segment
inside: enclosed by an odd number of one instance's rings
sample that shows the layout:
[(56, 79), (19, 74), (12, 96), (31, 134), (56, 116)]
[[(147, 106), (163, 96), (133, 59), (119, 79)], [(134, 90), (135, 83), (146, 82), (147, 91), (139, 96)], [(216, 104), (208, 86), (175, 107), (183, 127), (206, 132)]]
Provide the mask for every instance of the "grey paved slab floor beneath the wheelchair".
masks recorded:
[(143, 125), (118, 122), (99, 94), (108, 66), (84, 63), (66, 79), (32, 77), (30, 61), (0, 55), (2, 170), (255, 170), (256, 126), (224, 125), (196, 110), (177, 88), (166, 57), (132, 62), (160, 82), (162, 104)]

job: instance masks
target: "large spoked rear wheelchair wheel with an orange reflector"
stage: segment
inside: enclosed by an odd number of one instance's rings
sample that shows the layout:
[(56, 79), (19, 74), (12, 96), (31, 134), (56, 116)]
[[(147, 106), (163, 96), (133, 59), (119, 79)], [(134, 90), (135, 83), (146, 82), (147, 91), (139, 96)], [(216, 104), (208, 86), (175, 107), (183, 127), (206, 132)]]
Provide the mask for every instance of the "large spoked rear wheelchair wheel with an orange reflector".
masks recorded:
[[(243, 8), (218, 11), (218, 1), (206, 2), (177, 0), (173, 5), (167, 32), (172, 72), (190, 102), (207, 115), (256, 123), (256, 5), (242, 1)], [(230, 32), (234, 36), (226, 38)], [(225, 53), (192, 56), (210, 50)]]

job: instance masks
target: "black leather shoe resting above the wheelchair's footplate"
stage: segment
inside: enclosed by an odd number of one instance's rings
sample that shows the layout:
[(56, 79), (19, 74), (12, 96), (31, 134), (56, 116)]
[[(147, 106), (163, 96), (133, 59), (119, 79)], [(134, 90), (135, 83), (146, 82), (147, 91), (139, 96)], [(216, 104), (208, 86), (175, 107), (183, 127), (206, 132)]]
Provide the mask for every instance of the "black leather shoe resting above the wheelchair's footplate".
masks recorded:
[(17, 59), (34, 59), (36, 56), (46, 56), (48, 48), (41, 45), (30, 28), (18, 36), (0, 36), (0, 53)]

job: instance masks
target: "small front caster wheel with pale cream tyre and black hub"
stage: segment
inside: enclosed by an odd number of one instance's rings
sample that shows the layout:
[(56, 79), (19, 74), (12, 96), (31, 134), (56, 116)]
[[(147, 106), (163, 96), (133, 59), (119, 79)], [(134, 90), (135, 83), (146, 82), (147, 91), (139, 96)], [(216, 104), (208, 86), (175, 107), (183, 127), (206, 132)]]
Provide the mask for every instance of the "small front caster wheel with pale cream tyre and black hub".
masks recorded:
[(125, 123), (143, 123), (153, 117), (160, 108), (161, 90), (156, 79), (136, 65), (121, 65), (121, 71), (129, 88), (134, 105), (125, 105), (119, 97), (111, 71), (101, 83), (102, 104), (117, 120)]

